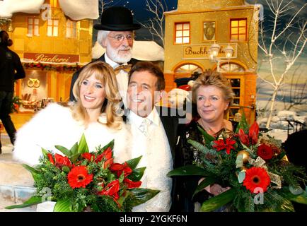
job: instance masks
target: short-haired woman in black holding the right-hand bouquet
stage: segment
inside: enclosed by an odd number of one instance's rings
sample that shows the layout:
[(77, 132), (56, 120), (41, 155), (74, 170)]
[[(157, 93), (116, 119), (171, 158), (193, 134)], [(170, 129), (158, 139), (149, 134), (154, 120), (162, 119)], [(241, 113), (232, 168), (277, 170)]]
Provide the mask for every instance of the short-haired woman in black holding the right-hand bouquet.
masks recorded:
[[(188, 139), (204, 144), (202, 133), (197, 126), (202, 127), (209, 135), (217, 137), (221, 131), (232, 133), (235, 129), (231, 121), (225, 118), (233, 101), (233, 91), (227, 79), (215, 71), (205, 71), (200, 75), (192, 87), (192, 102), (196, 105), (197, 117), (190, 124), (180, 129), (180, 140), (177, 145), (175, 167), (192, 165), (200, 161), (201, 153), (187, 143)], [(192, 195), (201, 177), (177, 177), (175, 179), (176, 210), (184, 212), (198, 211), (202, 202), (210, 196), (217, 196), (229, 189), (219, 184), (207, 186), (194, 198)]]

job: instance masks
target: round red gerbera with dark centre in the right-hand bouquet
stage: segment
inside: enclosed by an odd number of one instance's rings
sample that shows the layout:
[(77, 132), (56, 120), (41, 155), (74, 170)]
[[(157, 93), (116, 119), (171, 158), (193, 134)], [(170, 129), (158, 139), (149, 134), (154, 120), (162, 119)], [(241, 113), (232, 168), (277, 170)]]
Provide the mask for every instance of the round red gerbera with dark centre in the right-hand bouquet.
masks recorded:
[[(252, 193), (259, 193), (258, 189), (263, 192), (267, 191), (267, 186), (270, 185), (270, 177), (265, 169), (260, 167), (251, 167), (245, 172), (245, 179), (243, 185)], [(257, 189), (258, 188), (258, 189)]]

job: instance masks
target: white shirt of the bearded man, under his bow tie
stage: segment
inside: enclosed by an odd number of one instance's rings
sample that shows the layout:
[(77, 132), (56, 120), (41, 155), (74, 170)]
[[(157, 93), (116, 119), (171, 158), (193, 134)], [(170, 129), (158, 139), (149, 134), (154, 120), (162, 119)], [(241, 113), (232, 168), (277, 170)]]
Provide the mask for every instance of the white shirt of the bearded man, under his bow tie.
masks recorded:
[[(120, 66), (120, 64), (117, 64), (115, 61), (112, 61), (112, 59), (110, 59), (107, 54), (105, 54), (105, 62), (110, 64), (110, 66), (112, 66), (113, 69), (116, 69), (117, 66)], [(122, 65), (127, 65), (127, 63), (124, 63)], [(127, 106), (126, 100), (127, 100), (128, 81), (129, 81), (129, 76), (127, 71), (120, 70), (120, 72), (117, 73), (116, 75), (116, 80), (117, 80), (117, 88), (118, 91), (120, 91), (120, 96), (122, 97), (124, 106)]]

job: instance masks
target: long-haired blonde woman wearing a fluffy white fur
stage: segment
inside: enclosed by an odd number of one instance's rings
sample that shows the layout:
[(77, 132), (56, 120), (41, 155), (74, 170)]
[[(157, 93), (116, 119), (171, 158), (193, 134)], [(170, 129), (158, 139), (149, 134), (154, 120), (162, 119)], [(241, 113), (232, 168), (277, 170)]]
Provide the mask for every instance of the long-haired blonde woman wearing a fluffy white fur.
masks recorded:
[(115, 139), (115, 161), (129, 159), (130, 135), (119, 114), (120, 95), (112, 68), (102, 61), (88, 64), (74, 84), (74, 95), (76, 102), (68, 107), (52, 103), (18, 130), (16, 160), (35, 165), (41, 148), (59, 153), (54, 145), (71, 148), (83, 133), (90, 151)]

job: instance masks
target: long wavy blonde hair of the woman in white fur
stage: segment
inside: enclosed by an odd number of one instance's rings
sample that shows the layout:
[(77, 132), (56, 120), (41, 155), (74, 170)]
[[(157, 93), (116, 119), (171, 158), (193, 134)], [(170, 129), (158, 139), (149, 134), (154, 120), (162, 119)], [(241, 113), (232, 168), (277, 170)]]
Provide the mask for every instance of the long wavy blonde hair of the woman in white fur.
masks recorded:
[[(117, 88), (115, 73), (110, 65), (103, 61), (94, 61), (86, 65), (79, 74), (76, 83), (74, 83), (73, 93), (76, 102), (71, 106), (71, 112), (77, 121), (83, 121), (87, 125), (86, 109), (80, 100), (80, 87), (84, 79), (95, 75), (103, 85), (105, 85), (105, 101), (101, 108), (101, 113), (105, 113), (107, 117), (106, 125), (113, 129), (120, 129), (122, 125), (122, 117), (120, 116), (121, 97)], [(103, 123), (97, 119), (98, 122)]]

